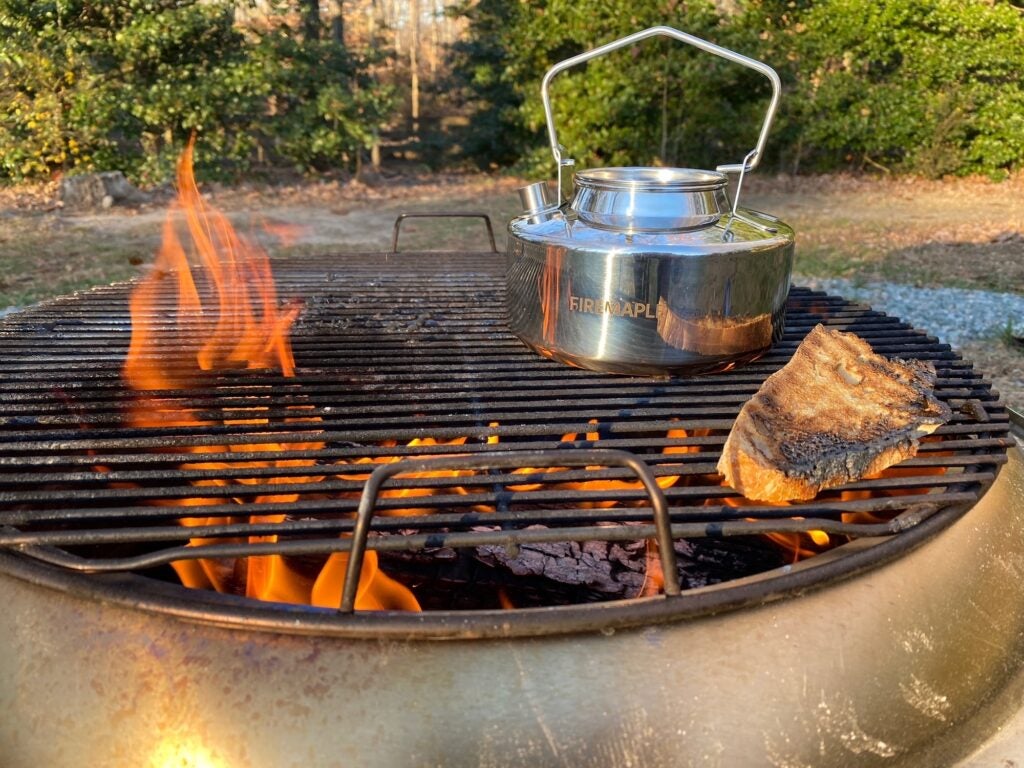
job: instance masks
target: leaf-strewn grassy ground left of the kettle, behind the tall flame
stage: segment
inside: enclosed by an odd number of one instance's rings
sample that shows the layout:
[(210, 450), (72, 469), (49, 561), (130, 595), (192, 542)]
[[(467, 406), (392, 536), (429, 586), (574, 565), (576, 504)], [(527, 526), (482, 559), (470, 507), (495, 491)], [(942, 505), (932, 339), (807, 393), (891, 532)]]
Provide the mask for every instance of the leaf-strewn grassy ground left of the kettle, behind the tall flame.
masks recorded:
[[(438, 210), (486, 213), (502, 249), (506, 222), (519, 213), (514, 184), (486, 188), (489, 194), (478, 193), (472, 184), (465, 186), (456, 185), (454, 194), (444, 186), (439, 190), (427, 186), (420, 195), (368, 201), (364, 198), (373, 197), (373, 190), (335, 197), (310, 185), (286, 196), (273, 188), (248, 197), (227, 191), (215, 195), (213, 204), (228, 212), (241, 233), (259, 241), (276, 258), (383, 252), (390, 248), (398, 214)], [(142, 273), (160, 245), (166, 208), (155, 205), (142, 211), (113, 209), (76, 215), (0, 208), (0, 309)], [(297, 224), (304, 232), (295, 244), (283, 245), (262, 232), (263, 219)], [(402, 223), (399, 248), (485, 251), (489, 244), (479, 219), (415, 218)]]

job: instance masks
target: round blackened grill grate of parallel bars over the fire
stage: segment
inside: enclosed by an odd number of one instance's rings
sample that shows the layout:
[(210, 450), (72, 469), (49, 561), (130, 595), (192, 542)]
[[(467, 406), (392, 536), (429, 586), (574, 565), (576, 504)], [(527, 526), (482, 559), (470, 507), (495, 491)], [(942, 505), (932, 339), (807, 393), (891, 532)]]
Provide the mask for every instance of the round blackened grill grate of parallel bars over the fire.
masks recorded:
[[(502, 270), (492, 254), (279, 263), (279, 294), (304, 302), (292, 334), (298, 375), (229, 372), (160, 393), (160, 409), (187, 412), (199, 425), (171, 419), (138, 427), (127, 419), (138, 402), (120, 377), (129, 286), (9, 316), (0, 323), (0, 547), (90, 571), (347, 551), (353, 540), (340, 537), (355, 527), (374, 460), (440, 457), (468, 467), (496, 452), (514, 452), (511, 466), (390, 480), (365, 501), (378, 513), (372, 531), (386, 534), (368, 546), (654, 537), (654, 503), (629, 484), (631, 470), (596, 460), (568, 467), (573, 450), (642, 458), (664, 486), (676, 538), (896, 536), (940, 510), (969, 509), (1006, 460), (1007, 412), (972, 366), (862, 305), (795, 289), (783, 340), (753, 364), (694, 379), (612, 377), (542, 359), (512, 337)], [(169, 302), (158, 310), (170, 311)], [(954, 417), (901, 465), (903, 476), (862, 480), (795, 507), (736, 506), (715, 474), (725, 436), (740, 406), (818, 323), (853, 331), (880, 353), (932, 360), (938, 395)], [(273, 453), (264, 447), (271, 443)], [(565, 465), (523, 471), (539, 466), (538, 452)], [(174, 504), (197, 498), (202, 506)], [(400, 510), (408, 514), (388, 516)], [(855, 512), (874, 515), (844, 521)], [(218, 522), (175, 522), (186, 514)], [(274, 514), (288, 517), (237, 519)], [(526, 527), (538, 523), (564, 529)], [(472, 529), (479, 525), (494, 529)], [(237, 541), (265, 535), (281, 539)], [(221, 543), (186, 547), (194, 537)]]

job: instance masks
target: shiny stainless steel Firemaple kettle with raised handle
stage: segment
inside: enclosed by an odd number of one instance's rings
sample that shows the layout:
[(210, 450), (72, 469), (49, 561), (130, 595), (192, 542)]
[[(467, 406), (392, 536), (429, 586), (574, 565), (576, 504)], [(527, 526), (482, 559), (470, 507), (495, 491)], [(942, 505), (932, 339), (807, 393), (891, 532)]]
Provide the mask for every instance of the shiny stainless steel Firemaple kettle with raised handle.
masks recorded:
[[(793, 230), (738, 207), (778, 103), (778, 75), (671, 27), (652, 27), (568, 58), (541, 94), (558, 168), (574, 165), (558, 143), (549, 86), (560, 72), (654, 36), (749, 67), (772, 84), (757, 145), (742, 163), (691, 168), (600, 168), (574, 174), (568, 201), (547, 182), (523, 187), (525, 213), (509, 223), (510, 327), (541, 354), (596, 371), (697, 374), (763, 354), (782, 334), (793, 270)], [(727, 173), (739, 175), (730, 204)]]

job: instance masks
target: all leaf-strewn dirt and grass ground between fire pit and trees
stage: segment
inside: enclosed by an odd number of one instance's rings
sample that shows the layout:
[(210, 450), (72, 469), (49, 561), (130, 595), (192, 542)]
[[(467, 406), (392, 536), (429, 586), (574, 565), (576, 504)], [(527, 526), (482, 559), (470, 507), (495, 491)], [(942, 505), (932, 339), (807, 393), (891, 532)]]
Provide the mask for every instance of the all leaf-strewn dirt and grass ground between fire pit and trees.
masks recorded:
[[(480, 211), (504, 225), (519, 212), (520, 179), (410, 175), (293, 184), (210, 184), (208, 201), (275, 257), (383, 251), (401, 212)], [(0, 310), (134, 276), (152, 261), (172, 199), (151, 191), (135, 208), (72, 212), (56, 185), (0, 188)], [(798, 234), (801, 275), (954, 286), (1024, 295), (1024, 177), (926, 181), (874, 177), (752, 177), (741, 205), (772, 213)], [(412, 219), (401, 250), (483, 250), (482, 222)], [(1008, 317), (1017, 335), (1024, 317)], [(1010, 338), (963, 351), (1024, 409), (1024, 347)]]

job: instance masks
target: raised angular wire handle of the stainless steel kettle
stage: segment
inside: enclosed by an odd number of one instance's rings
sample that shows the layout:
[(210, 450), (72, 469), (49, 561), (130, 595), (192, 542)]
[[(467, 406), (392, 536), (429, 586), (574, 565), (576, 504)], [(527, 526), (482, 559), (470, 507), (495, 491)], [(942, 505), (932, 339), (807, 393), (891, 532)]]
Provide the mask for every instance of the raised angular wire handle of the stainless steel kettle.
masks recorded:
[(761, 124), (761, 133), (758, 136), (757, 145), (746, 155), (746, 158), (743, 159), (742, 163), (720, 165), (717, 170), (721, 173), (748, 173), (757, 168), (758, 163), (761, 162), (765, 141), (768, 139), (768, 132), (771, 130), (772, 121), (775, 119), (775, 110), (778, 106), (779, 95), (782, 91), (782, 83), (778, 78), (778, 73), (768, 65), (758, 61), (756, 58), (751, 58), (742, 55), (741, 53), (729, 50), (728, 48), (723, 48), (720, 45), (709, 43), (707, 40), (693, 35), (688, 35), (687, 33), (681, 32), (673, 27), (650, 27), (646, 30), (635, 32), (632, 35), (627, 35), (618, 40), (613, 40), (610, 43), (600, 45), (597, 48), (592, 48), (591, 50), (580, 53), (571, 58), (566, 58), (564, 61), (559, 61), (545, 74), (544, 80), (541, 82), (541, 99), (544, 101), (544, 118), (548, 123), (548, 139), (551, 142), (551, 154), (554, 156), (555, 165), (558, 167), (559, 195), (561, 195), (562, 188), (562, 168), (564, 166), (573, 165), (575, 161), (571, 158), (565, 158), (565, 147), (558, 143), (558, 131), (555, 128), (555, 116), (551, 109), (551, 81), (554, 80), (555, 76), (560, 72), (564, 72), (565, 70), (575, 67), (577, 65), (584, 63), (585, 61), (597, 58), (598, 56), (603, 56), (605, 53), (618, 48), (625, 48), (628, 45), (638, 43), (641, 40), (646, 40), (650, 37), (671, 37), (683, 43), (688, 43), (689, 45), (699, 48), (702, 51), (713, 53), (716, 56), (721, 56), (722, 58), (732, 61), (733, 63), (738, 63), (742, 67), (746, 67), (748, 69), (754, 70), (755, 72), (759, 72), (771, 81), (771, 101), (768, 103), (768, 111), (765, 114), (764, 122)]

